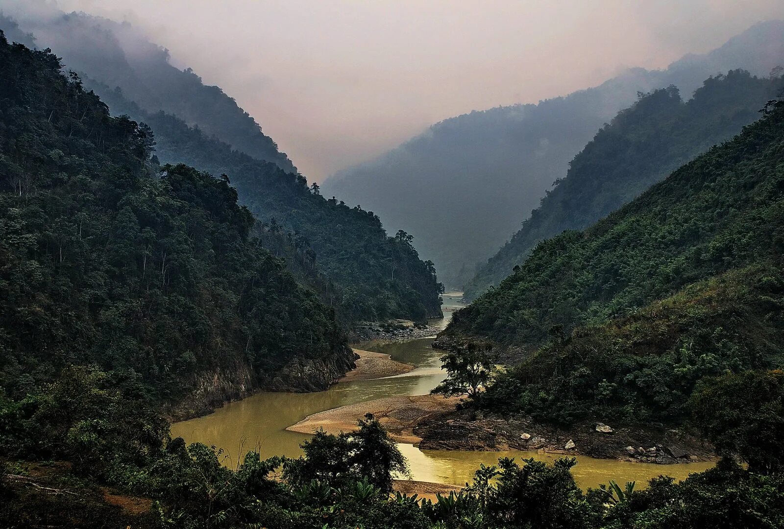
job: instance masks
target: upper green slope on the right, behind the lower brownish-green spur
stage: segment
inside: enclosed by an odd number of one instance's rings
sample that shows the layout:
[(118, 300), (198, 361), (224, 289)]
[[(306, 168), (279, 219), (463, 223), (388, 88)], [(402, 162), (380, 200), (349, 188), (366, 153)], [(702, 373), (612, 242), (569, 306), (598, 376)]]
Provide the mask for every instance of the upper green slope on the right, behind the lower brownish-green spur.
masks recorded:
[(442, 339), (481, 336), (532, 351), (554, 332), (568, 336), (685, 285), (780, 260), (784, 107), (766, 108), (587, 230), (540, 242), (514, 274), (456, 313)]

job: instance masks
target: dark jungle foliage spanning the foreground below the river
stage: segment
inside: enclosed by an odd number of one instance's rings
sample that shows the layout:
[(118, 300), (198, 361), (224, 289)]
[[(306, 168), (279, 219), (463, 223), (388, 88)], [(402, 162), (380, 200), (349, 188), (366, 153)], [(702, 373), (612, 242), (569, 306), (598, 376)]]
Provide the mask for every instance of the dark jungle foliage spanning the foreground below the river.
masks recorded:
[[(711, 405), (714, 399), (720, 408)], [(0, 399), (0, 525), (276, 529), (745, 529), (782, 527), (784, 375), (750, 371), (699, 387), (692, 411), (725, 457), (681, 483), (611, 481), (582, 491), (575, 460), (503, 458), (463, 491), (390, 495), (401, 455), (372, 416), (318, 434), (296, 459), (223, 453), (170, 439), (133, 383), (68, 368), (23, 400)], [(739, 458), (747, 468), (731, 457)], [(663, 469), (663, 468), (662, 468)], [(622, 479), (623, 476), (618, 476)]]

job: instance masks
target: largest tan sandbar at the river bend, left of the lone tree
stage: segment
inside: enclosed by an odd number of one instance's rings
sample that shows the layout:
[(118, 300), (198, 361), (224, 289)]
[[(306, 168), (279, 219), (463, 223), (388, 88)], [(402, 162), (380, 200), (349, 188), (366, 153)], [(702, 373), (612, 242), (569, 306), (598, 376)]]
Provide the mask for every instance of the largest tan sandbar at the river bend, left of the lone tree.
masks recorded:
[(414, 426), (454, 410), (458, 400), (458, 397), (445, 399), (441, 395), (368, 400), (308, 415), (286, 429), (299, 433), (313, 433), (319, 428), (327, 433), (353, 432), (357, 429), (358, 419), (372, 413), (398, 443), (416, 444), (421, 439), (412, 433)]

